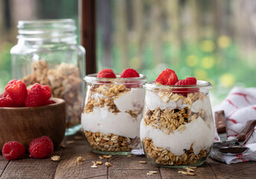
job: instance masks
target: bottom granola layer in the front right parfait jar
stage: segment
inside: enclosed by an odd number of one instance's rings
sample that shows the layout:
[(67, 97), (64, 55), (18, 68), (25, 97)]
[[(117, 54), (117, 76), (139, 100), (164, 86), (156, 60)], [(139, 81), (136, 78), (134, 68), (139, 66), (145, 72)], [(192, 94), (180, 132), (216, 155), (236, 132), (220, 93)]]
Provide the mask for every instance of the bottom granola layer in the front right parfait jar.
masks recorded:
[(201, 150), (199, 154), (194, 154), (193, 145), (191, 145), (190, 150), (187, 150), (181, 156), (176, 156), (172, 154), (171, 151), (164, 150), (163, 148), (157, 148), (154, 146), (152, 139), (143, 139), (143, 145), (149, 157), (149, 160), (154, 160), (154, 163), (160, 165), (191, 165), (207, 157), (210, 149)]

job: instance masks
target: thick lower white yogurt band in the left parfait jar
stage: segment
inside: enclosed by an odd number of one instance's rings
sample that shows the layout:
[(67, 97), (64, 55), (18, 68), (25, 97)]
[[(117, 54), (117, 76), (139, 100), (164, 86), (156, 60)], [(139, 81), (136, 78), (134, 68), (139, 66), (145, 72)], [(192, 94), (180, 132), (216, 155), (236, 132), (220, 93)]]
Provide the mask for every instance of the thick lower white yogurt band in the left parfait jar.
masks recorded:
[(81, 125), (85, 131), (116, 134), (133, 139), (140, 136), (141, 117), (142, 114), (135, 119), (125, 112), (115, 114), (110, 113), (107, 107), (95, 107), (91, 113), (82, 113)]

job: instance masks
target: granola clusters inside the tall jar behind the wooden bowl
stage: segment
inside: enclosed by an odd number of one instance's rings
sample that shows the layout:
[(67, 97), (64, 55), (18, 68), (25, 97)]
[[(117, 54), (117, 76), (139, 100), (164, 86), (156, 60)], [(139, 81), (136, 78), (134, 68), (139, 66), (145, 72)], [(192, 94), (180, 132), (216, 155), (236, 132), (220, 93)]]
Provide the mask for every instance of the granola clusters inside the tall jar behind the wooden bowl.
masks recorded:
[(49, 85), (53, 97), (63, 98), (66, 101), (66, 127), (69, 128), (80, 123), (82, 80), (77, 66), (60, 63), (54, 69), (50, 69), (46, 60), (34, 61), (31, 66), (31, 74), (21, 80), (28, 87), (34, 83)]

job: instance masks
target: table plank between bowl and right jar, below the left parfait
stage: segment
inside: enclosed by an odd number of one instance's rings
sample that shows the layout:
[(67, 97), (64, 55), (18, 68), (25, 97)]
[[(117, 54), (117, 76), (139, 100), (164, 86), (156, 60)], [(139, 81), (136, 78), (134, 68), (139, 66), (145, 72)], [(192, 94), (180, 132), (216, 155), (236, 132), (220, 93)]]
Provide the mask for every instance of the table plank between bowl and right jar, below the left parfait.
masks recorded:
[[(74, 142), (69, 144), (69, 142)], [(55, 178), (107, 178), (107, 166), (101, 165), (98, 169), (93, 169), (92, 161), (99, 161), (99, 154), (90, 151), (90, 145), (84, 139), (66, 139), (66, 148), (57, 166)], [(83, 162), (78, 162), (77, 158), (83, 157)], [(107, 159), (101, 160), (102, 163)]]

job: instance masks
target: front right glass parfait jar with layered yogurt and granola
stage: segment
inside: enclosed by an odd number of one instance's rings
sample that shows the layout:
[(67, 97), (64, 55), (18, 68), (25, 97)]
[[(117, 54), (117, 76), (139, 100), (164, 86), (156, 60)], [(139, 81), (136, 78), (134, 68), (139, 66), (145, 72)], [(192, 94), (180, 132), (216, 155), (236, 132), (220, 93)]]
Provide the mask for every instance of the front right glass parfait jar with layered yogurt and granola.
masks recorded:
[(156, 166), (200, 166), (210, 154), (213, 139), (211, 84), (166, 86), (149, 81), (140, 123), (146, 157)]

